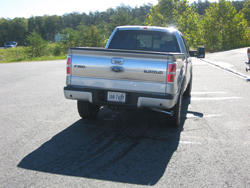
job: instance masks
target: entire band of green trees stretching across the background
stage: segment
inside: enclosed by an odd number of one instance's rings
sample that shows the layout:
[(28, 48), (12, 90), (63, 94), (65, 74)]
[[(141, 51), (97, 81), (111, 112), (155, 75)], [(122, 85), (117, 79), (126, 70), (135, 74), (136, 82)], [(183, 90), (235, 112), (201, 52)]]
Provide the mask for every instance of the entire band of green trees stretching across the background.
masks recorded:
[(36, 38), (46, 46), (46, 41), (55, 41), (56, 34), (64, 34), (64, 40), (53, 50), (56, 55), (70, 46), (104, 46), (119, 25), (173, 26), (185, 35), (190, 46), (203, 45), (210, 51), (243, 47), (250, 45), (250, 0), (199, 0), (192, 4), (187, 0), (159, 0), (155, 6), (120, 5), (89, 14), (0, 18), (0, 46), (17, 41), (19, 46), (30, 47)]

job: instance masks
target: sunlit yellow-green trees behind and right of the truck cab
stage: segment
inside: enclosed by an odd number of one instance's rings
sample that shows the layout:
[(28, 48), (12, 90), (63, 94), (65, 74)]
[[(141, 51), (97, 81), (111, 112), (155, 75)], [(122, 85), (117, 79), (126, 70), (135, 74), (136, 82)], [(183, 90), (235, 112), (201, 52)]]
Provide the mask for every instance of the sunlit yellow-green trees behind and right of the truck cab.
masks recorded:
[(228, 50), (250, 45), (250, 0), (237, 11), (233, 3), (203, 4), (205, 11), (197, 12), (199, 2), (189, 5), (186, 0), (159, 0), (146, 19), (147, 25), (177, 27), (190, 46), (205, 46), (208, 51)]

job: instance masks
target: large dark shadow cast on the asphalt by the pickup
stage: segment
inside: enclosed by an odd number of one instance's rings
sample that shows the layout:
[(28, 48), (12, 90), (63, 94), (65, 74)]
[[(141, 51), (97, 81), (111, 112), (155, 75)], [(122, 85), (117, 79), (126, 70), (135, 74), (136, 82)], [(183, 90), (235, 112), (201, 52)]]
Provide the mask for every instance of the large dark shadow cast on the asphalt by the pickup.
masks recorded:
[[(187, 113), (190, 99), (183, 101)], [(182, 114), (185, 115), (185, 114)], [(155, 185), (167, 173), (185, 118), (168, 128), (165, 115), (150, 110), (102, 111), (78, 120), (28, 154), (18, 167), (98, 180)]]

